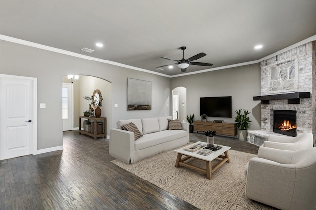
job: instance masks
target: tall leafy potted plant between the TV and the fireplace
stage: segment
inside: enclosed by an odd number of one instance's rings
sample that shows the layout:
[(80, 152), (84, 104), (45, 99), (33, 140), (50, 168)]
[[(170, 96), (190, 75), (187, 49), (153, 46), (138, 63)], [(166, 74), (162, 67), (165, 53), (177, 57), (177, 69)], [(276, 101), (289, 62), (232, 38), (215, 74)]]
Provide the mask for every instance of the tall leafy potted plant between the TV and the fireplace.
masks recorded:
[(250, 112), (244, 109), (242, 114), (242, 109), (239, 109), (239, 111), (236, 110), (235, 113), (237, 114), (237, 117), (234, 120), (237, 122), (235, 124), (235, 127), (237, 128), (237, 136), (240, 141), (245, 141), (247, 140), (247, 130), (249, 129), (251, 122), (250, 118), (247, 117)]

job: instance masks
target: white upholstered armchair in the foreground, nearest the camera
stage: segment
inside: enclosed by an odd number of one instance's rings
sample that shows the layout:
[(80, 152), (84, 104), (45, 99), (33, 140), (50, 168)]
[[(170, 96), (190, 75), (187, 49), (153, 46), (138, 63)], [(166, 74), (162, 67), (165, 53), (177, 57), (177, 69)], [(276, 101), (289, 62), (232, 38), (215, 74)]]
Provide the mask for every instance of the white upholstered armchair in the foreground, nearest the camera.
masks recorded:
[(282, 210), (314, 210), (316, 148), (260, 147), (245, 166), (246, 196)]

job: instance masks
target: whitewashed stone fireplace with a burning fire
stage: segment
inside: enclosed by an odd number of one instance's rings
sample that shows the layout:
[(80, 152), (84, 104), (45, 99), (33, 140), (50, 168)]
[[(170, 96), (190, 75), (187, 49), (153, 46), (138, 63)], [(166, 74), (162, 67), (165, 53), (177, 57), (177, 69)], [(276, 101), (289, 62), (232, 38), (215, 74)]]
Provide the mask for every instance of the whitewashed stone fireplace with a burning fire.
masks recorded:
[[(248, 142), (261, 146), (269, 135), (311, 132), (316, 145), (316, 42), (263, 60), (260, 66), (261, 95), (253, 98), (261, 102), (261, 130), (249, 130)], [(282, 112), (295, 117), (276, 123), (276, 115)], [(291, 121), (290, 129), (284, 120)]]

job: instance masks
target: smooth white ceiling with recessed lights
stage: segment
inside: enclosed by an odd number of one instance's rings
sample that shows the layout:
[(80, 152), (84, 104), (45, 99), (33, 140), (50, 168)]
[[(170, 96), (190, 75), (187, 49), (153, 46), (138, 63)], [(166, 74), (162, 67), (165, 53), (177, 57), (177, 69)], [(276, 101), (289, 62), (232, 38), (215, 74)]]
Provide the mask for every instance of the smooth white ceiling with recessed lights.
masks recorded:
[[(316, 0), (0, 0), (0, 34), (166, 75), (264, 58), (316, 35)], [(98, 48), (96, 42), (104, 47)], [(261, 50), (254, 46), (262, 44)], [(95, 50), (83, 52), (83, 47)]]

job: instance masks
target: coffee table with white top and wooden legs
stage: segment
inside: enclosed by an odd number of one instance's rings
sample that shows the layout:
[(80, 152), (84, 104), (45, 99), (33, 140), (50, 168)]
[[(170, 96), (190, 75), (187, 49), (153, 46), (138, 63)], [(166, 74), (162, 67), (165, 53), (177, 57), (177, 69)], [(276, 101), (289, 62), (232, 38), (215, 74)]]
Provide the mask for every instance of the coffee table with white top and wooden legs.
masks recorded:
[[(196, 142), (199, 143), (199, 142)], [(194, 144), (196, 144), (194, 143)], [(205, 143), (205, 142), (200, 142), (200, 143)], [(194, 145), (192, 144), (192, 145)], [(186, 145), (185, 147), (187, 147), (188, 145)], [(197, 154), (198, 150), (195, 152), (190, 152), (190, 151), (185, 151), (183, 150), (183, 148), (180, 148), (178, 150), (174, 150), (175, 152), (178, 152), (178, 156), (177, 156), (177, 161), (176, 161), (176, 165), (175, 167), (179, 167), (179, 166), (185, 166), (203, 173), (206, 173), (206, 178), (207, 179), (212, 179), (212, 173), (217, 170), (221, 165), (223, 165), (225, 162), (230, 162), (229, 159), (229, 155), (228, 155), (228, 150), (231, 149), (231, 147), (227, 147), (227, 146), (223, 146), (221, 145), (221, 149), (217, 150), (217, 151), (213, 151), (211, 154), (209, 154), (208, 156), (204, 156), (201, 154)], [(224, 155), (222, 155), (224, 154)], [(184, 155), (185, 157), (182, 158), (182, 155)], [(194, 165), (190, 165), (189, 163), (186, 163), (186, 160), (189, 160), (190, 158), (196, 158), (196, 159), (200, 159), (200, 160), (204, 160), (206, 162), (206, 170)], [(221, 159), (216, 165), (214, 165), (212, 167), (212, 160), (219, 158)]]

